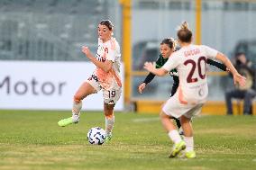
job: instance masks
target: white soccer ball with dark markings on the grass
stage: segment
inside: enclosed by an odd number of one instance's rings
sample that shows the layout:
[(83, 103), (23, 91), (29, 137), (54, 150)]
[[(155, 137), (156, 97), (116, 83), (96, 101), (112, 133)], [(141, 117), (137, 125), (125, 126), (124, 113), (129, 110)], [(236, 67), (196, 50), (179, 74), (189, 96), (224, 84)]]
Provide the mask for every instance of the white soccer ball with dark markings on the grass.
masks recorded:
[(105, 142), (105, 130), (94, 127), (88, 130), (87, 139), (92, 145), (102, 145)]

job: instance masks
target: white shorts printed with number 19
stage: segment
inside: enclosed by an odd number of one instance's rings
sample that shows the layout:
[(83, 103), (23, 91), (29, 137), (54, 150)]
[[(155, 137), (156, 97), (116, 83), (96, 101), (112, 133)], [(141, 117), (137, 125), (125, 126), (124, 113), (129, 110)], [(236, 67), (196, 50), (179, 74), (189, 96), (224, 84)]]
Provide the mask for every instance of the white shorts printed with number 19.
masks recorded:
[(121, 93), (122, 93), (121, 87), (117, 86), (117, 87), (113, 87), (106, 90), (102, 88), (95, 74), (91, 75), (86, 82), (92, 85), (96, 89), (96, 92), (99, 92), (100, 90), (102, 90), (104, 103), (115, 104), (121, 96)]

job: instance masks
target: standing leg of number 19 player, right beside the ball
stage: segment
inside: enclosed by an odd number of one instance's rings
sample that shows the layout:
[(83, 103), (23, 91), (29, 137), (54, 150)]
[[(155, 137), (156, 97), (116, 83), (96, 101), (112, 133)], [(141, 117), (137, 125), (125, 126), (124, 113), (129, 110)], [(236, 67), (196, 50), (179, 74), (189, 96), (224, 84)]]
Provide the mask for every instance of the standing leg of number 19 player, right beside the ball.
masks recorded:
[(106, 142), (112, 138), (114, 128), (114, 104), (104, 103)]

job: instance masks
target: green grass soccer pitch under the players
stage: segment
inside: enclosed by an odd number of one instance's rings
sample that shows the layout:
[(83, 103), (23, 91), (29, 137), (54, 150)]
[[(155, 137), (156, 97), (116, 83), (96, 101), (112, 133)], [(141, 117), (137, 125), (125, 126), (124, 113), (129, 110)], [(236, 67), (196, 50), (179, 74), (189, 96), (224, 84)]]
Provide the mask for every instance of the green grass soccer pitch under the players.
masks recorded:
[(169, 159), (172, 146), (158, 115), (115, 113), (114, 137), (102, 146), (87, 130), (105, 127), (99, 112), (82, 113), (61, 128), (69, 112), (0, 111), (0, 169), (255, 169), (256, 117), (201, 116), (193, 121), (197, 158)]

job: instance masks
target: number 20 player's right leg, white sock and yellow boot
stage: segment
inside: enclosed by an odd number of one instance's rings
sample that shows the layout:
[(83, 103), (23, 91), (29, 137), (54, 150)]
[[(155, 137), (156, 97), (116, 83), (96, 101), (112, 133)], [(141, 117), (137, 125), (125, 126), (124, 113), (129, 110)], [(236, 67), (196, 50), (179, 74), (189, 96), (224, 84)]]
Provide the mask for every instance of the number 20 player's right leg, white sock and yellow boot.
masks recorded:
[(180, 122), (184, 131), (184, 141), (186, 143), (185, 157), (194, 158), (196, 157), (196, 152), (194, 151), (193, 128), (191, 124), (191, 119), (187, 118), (186, 116), (181, 116)]

